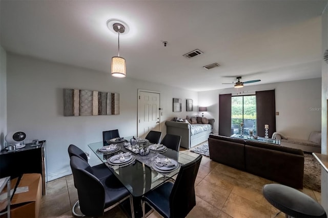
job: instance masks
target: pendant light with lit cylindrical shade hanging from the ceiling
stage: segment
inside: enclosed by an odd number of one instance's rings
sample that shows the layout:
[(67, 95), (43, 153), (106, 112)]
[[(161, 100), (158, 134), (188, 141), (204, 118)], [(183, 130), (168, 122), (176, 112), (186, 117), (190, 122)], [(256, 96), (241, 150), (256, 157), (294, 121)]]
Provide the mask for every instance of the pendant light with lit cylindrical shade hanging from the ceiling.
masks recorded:
[(118, 52), (117, 56), (112, 57), (112, 76), (123, 78), (127, 75), (127, 66), (125, 59), (119, 56), (119, 34), (124, 33), (125, 27), (115, 23), (113, 24), (113, 29), (118, 33)]

